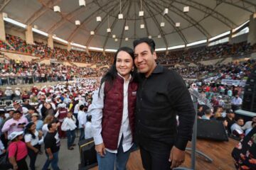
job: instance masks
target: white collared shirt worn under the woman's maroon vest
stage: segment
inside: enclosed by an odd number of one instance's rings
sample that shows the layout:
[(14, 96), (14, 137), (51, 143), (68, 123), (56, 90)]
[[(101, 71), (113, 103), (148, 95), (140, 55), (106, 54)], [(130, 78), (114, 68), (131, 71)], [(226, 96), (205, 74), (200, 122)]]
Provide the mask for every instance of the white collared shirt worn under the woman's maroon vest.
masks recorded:
[[(122, 125), (119, 131), (118, 144), (117, 144), (117, 148), (118, 148), (121, 137), (123, 135), (122, 148), (124, 149), (124, 152), (127, 152), (127, 150), (129, 150), (133, 144), (132, 131), (129, 126), (129, 117), (128, 117), (128, 86), (131, 78), (132, 77), (130, 75), (127, 81), (124, 80), (124, 106), (123, 106), (123, 113), (122, 113)], [(90, 112), (89, 114), (92, 115), (92, 134), (95, 140), (95, 145), (99, 145), (103, 143), (101, 132), (102, 132), (102, 109), (104, 108), (104, 86), (105, 84), (103, 83), (100, 89), (100, 98), (98, 96), (99, 89), (93, 92), (92, 104), (89, 107), (89, 111), (88, 111)], [(117, 153), (117, 149), (116, 150), (107, 149), (107, 151), (112, 153)]]

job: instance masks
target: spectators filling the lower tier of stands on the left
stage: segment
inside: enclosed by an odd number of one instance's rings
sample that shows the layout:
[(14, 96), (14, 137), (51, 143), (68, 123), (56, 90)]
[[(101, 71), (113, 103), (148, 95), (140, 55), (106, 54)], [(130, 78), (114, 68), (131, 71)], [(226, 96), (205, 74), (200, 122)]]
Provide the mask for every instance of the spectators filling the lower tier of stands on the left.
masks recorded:
[(38, 62), (23, 62), (5, 60), (0, 63), (0, 86), (16, 84), (34, 84), (51, 81), (69, 81), (76, 77), (100, 77), (107, 67), (90, 68), (65, 66), (64, 64), (40, 64)]

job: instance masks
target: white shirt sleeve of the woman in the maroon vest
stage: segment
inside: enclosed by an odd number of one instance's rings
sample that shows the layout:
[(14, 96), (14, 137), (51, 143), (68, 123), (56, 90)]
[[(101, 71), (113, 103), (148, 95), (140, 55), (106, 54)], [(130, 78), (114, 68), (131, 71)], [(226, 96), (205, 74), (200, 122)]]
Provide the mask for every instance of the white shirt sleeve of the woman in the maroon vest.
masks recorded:
[(102, 109), (104, 108), (104, 83), (99, 90), (94, 91), (92, 95), (92, 104), (88, 110), (89, 115), (92, 115), (92, 134), (95, 140), (95, 145), (103, 143), (102, 140)]

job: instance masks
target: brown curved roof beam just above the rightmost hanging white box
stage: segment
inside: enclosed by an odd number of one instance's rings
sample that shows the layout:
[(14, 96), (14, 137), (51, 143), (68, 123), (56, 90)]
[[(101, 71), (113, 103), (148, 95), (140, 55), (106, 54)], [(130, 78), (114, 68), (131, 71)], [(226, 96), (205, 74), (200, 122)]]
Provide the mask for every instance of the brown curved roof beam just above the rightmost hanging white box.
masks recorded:
[(233, 29), (238, 25), (231, 21), (229, 18), (223, 16), (223, 14), (219, 13), (218, 11), (213, 10), (213, 8), (209, 8), (203, 4), (200, 4), (193, 0), (172, 0), (178, 4), (183, 4), (184, 6), (190, 6), (191, 8), (196, 8), (198, 11), (206, 13), (208, 16), (212, 16), (213, 18), (217, 19), (221, 23), (224, 23), (228, 28)]

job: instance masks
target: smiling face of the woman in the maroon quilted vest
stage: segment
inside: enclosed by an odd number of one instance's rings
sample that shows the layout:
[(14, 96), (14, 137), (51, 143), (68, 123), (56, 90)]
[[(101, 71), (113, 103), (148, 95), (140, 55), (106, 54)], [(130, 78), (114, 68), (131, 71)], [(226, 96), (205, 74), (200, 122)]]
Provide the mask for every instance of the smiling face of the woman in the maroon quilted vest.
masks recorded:
[(134, 67), (132, 57), (124, 51), (119, 51), (117, 54), (117, 62), (115, 64), (117, 72), (124, 78), (129, 78), (129, 74)]

